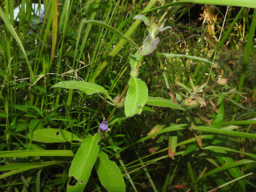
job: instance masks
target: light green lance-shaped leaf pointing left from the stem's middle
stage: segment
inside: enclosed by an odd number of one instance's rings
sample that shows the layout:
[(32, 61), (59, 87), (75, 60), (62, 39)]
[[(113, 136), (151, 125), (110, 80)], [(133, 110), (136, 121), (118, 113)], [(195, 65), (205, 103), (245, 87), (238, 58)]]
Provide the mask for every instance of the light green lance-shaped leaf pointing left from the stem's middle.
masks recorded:
[(61, 81), (60, 83), (54, 84), (52, 88), (54, 87), (61, 87), (66, 89), (77, 89), (77, 90), (80, 90), (81, 92), (86, 93), (87, 95), (93, 95), (95, 93), (103, 93), (108, 97), (108, 99), (110, 99), (111, 101), (113, 100), (109, 96), (108, 91), (105, 90), (104, 87), (95, 83), (89, 83), (84, 81)]

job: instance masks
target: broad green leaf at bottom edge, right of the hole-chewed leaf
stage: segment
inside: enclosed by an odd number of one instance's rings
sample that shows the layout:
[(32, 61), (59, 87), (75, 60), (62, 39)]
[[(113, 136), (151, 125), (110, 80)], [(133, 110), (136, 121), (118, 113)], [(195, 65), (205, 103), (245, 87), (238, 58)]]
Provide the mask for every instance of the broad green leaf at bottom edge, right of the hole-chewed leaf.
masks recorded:
[(100, 183), (108, 192), (125, 191), (124, 177), (115, 161), (110, 161), (106, 153), (99, 153), (99, 157), (95, 163), (95, 168), (99, 176)]

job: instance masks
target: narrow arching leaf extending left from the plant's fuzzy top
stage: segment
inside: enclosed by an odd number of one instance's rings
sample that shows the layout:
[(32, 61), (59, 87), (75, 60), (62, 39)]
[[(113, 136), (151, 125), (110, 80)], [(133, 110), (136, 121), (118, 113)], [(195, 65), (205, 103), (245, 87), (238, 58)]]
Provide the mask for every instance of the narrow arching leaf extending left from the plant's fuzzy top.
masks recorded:
[(130, 38), (128, 38), (127, 36), (124, 36), (120, 31), (118, 31), (116, 28), (113, 28), (112, 26), (107, 25), (106, 23), (100, 21), (100, 20), (84, 20), (84, 23), (92, 23), (92, 24), (96, 24), (97, 26), (101, 26), (102, 28), (106, 28), (109, 31), (115, 33), (116, 36), (119, 36), (120, 38), (123, 38), (124, 40), (126, 40), (127, 42), (129, 42), (130, 44), (134, 45), (134, 47), (136, 47), (138, 49), (138, 45), (131, 40)]

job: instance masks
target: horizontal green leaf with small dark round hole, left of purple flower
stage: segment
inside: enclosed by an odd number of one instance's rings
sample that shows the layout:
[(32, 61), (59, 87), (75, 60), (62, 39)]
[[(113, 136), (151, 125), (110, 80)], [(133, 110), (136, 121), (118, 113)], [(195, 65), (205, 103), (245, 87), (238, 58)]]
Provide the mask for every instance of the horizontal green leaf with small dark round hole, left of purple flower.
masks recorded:
[(37, 129), (36, 131), (33, 131), (32, 135), (32, 141), (43, 143), (63, 143), (67, 141), (71, 143), (72, 140), (83, 141), (76, 134), (72, 134), (72, 132), (53, 128)]

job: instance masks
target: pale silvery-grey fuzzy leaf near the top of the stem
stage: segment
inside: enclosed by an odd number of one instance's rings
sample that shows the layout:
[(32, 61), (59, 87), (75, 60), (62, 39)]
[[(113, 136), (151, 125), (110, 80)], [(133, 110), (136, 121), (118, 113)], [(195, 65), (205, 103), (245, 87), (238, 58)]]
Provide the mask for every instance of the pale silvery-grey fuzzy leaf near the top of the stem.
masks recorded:
[(159, 44), (159, 37), (154, 38), (149, 34), (143, 41), (143, 47), (140, 51), (140, 54), (143, 56), (146, 56), (152, 53), (156, 49), (158, 44)]

